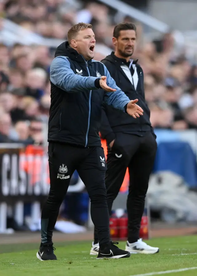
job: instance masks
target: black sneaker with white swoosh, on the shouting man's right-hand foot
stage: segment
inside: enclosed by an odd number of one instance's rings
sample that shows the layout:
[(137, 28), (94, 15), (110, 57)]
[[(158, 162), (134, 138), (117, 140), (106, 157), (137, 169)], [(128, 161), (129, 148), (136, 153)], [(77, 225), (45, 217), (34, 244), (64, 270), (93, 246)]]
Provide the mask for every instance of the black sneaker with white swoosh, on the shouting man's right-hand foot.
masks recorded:
[(111, 242), (105, 249), (101, 250), (99, 248), (97, 259), (119, 259), (119, 258), (129, 258), (130, 252), (119, 249), (115, 244), (118, 242)]

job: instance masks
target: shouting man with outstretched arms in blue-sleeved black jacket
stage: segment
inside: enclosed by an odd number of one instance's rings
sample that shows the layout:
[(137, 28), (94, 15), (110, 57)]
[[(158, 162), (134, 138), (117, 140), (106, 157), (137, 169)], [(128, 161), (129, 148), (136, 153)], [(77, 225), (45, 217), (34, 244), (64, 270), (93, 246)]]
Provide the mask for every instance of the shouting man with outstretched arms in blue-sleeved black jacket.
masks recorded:
[(75, 170), (91, 200), (91, 218), (98, 230), (100, 258), (127, 258), (130, 252), (110, 240), (106, 199), (106, 160), (99, 128), (105, 102), (134, 118), (143, 109), (111, 78), (105, 65), (93, 60), (95, 38), (90, 24), (70, 28), (50, 67), (51, 105), (48, 128), (50, 192), (41, 215), (40, 260), (56, 260), (52, 242), (60, 205)]

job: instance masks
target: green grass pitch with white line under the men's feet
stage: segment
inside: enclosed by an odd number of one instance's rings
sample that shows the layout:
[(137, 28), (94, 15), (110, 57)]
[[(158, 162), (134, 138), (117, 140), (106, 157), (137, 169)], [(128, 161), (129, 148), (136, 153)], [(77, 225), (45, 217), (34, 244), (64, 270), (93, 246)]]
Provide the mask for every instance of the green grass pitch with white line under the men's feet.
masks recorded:
[[(57, 261), (41, 262), (36, 258), (38, 244), (2, 245), (0, 276), (132, 276), (166, 275), (197, 276), (197, 236), (155, 238), (148, 241), (160, 248), (154, 255), (131, 254), (125, 259), (96, 260), (90, 256), (90, 242), (55, 243)], [(125, 242), (119, 246), (124, 249)], [(154, 274), (159, 272), (158, 274)], [(161, 273), (162, 272), (162, 273)]]

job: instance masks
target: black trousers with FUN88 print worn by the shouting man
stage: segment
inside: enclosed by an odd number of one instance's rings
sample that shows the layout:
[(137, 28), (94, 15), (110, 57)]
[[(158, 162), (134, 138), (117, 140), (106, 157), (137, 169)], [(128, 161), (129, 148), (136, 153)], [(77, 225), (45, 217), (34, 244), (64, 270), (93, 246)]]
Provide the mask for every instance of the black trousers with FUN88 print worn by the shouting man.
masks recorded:
[(60, 205), (75, 170), (86, 186), (91, 201), (91, 218), (101, 244), (110, 241), (109, 212), (105, 187), (106, 160), (102, 147), (80, 148), (49, 143), (50, 192), (41, 215), (41, 242), (52, 241)]

